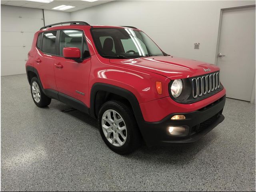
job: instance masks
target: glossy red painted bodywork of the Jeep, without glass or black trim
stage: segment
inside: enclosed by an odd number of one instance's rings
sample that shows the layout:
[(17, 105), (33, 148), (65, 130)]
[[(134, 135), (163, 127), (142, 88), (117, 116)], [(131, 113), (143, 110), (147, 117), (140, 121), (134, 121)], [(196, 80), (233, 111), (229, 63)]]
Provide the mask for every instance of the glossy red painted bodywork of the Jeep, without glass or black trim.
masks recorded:
[[(122, 28), (115, 26), (93, 27)], [(90, 28), (91, 26), (73, 25), (57, 26), (39, 31), (39, 33), (61, 29), (84, 31), (91, 57), (81, 63), (60, 56), (44, 54), (38, 50), (36, 48), (38, 32), (36, 32), (26, 66), (34, 66), (37, 69), (44, 89), (53, 89), (67, 94), (80, 100), (90, 108), (90, 90), (93, 84), (100, 82), (118, 86), (129, 90), (136, 96), (144, 120), (148, 122), (162, 120), (171, 113), (198, 110), (218, 100), (226, 93), (224, 89), (193, 104), (177, 103), (169, 96), (168, 84), (170, 80), (208, 73), (204, 72), (203, 68), (210, 68), (211, 72), (220, 69), (213, 64), (172, 56), (152, 56), (136, 59), (103, 58), (96, 50)], [(64, 49), (64, 54), (74, 55), (73, 52), (71, 54), (69, 51)], [(156, 90), (157, 81), (162, 82), (162, 94), (158, 94)], [(85, 93), (85, 96), (77, 94), (75, 90)]]

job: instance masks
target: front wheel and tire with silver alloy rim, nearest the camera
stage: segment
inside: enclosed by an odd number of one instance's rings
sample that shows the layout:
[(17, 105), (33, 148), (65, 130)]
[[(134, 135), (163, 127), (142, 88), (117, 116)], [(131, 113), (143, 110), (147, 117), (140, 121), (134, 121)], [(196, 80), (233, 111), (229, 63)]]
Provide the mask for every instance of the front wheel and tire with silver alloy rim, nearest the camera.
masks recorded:
[(98, 126), (105, 144), (118, 154), (131, 153), (141, 144), (142, 138), (132, 110), (122, 102), (105, 102), (98, 115)]

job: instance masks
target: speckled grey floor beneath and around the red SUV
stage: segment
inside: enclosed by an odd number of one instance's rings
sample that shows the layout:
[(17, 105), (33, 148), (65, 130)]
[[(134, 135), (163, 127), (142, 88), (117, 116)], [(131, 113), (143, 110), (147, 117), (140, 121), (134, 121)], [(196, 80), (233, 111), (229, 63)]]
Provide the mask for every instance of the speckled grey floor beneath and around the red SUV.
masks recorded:
[(26, 75), (1, 77), (2, 191), (255, 191), (255, 105), (226, 100), (226, 119), (189, 145), (120, 156), (96, 120), (32, 101)]

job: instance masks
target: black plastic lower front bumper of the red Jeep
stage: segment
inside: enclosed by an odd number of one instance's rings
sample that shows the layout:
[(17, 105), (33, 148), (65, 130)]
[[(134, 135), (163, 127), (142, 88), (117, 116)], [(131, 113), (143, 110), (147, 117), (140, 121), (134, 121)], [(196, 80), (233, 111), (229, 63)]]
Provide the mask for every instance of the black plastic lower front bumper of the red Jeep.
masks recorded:
[[(171, 143), (195, 142), (224, 120), (222, 110), (225, 101), (226, 96), (223, 96), (200, 110), (170, 114), (158, 122), (144, 121), (140, 125), (140, 131), (148, 146), (168, 146)], [(176, 114), (183, 114), (186, 119), (171, 120), (172, 116)], [(167, 133), (168, 126), (188, 126), (188, 135), (183, 137), (171, 136)]]

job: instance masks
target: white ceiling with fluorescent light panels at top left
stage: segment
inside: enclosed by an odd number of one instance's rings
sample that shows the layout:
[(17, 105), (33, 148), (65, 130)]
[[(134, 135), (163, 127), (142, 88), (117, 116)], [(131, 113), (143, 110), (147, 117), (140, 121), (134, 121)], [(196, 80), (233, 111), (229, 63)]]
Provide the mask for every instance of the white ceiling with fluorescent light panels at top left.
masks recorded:
[[(40, 9), (48, 9), (52, 10), (52, 8), (60, 6), (60, 5), (71, 5), (75, 6), (74, 8), (64, 10), (64, 12), (73, 12), (80, 9), (96, 6), (99, 4), (107, 3), (113, 0), (98, 0), (95, 2), (86, 2), (82, 0), (54, 0), (50, 3), (40, 3), (26, 0), (1, 0), (1, 4), (3, 5), (12, 5), (12, 6), (21, 6), (21, 7), (31, 7), (31, 8), (40, 8)], [(59, 11), (59, 10), (54, 10)]]

